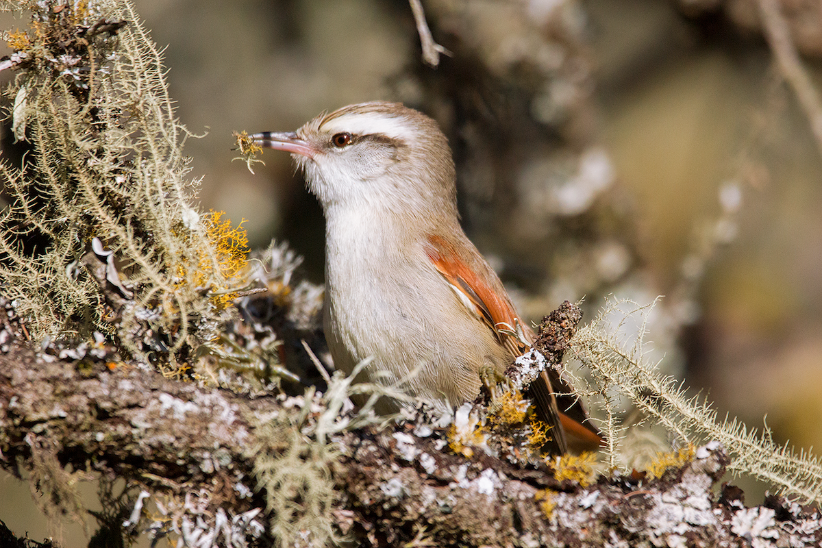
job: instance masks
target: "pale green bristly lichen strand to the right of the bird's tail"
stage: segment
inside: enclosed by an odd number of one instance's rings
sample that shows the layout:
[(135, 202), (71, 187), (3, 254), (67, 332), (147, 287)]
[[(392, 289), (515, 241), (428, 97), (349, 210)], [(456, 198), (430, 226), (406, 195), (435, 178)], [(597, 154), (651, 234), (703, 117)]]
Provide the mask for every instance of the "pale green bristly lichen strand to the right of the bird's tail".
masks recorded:
[[(626, 305), (633, 310), (624, 311)], [(687, 396), (680, 381), (661, 375), (656, 364), (645, 359), (642, 334), (652, 308), (653, 304), (608, 301), (597, 318), (571, 340), (575, 357), (591, 374), (589, 380), (575, 377), (574, 385), (592, 400), (591, 408), (606, 412), (602, 427), (609, 464), (620, 467), (630, 454), (630, 446), (624, 443), (627, 426), (619, 420), (620, 400), (629, 398), (650, 421), (686, 443), (718, 440), (731, 458), (728, 470), (735, 474), (766, 481), (786, 495), (822, 502), (819, 458), (805, 451), (796, 454), (789, 446), (774, 443), (767, 427), (760, 435), (736, 419), (718, 420), (709, 403), (699, 396)], [(640, 328), (639, 335), (628, 343), (623, 342), (626, 325)]]

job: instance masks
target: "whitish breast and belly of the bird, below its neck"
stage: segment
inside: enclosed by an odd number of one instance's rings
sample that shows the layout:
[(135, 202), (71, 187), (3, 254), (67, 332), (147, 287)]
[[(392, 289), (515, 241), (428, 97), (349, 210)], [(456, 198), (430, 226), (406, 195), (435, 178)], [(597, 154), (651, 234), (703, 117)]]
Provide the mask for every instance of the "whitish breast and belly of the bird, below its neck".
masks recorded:
[[(384, 383), (419, 368), (409, 391), (452, 406), (478, 394), (481, 366), (508, 366), (506, 349), (459, 302), (422, 246), (403, 254), (373, 239), (343, 242), (335, 236), (326, 242), (324, 324), (336, 366), (350, 372), (373, 357), (368, 377), (386, 371)], [(342, 245), (347, 252), (339, 252)]]

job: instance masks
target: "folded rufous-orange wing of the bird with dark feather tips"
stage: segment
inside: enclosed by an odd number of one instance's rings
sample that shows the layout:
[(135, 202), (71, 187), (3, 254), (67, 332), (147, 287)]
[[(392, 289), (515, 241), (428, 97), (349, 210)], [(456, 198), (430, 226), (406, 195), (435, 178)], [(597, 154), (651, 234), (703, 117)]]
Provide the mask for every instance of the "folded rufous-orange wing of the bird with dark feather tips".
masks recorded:
[[(459, 300), (492, 329), (496, 339), (510, 352), (512, 360), (528, 350), (533, 342), (533, 331), (520, 321), (502, 283), (479, 252), (473, 249), (473, 245), (466, 249), (447, 242), (443, 237), (431, 236), (428, 237), (426, 253)], [(478, 269), (486, 275), (479, 275)], [(529, 391), (536, 403), (538, 417), (551, 428), (552, 442), (545, 449), (552, 453), (566, 453), (563, 418), (566, 421), (569, 419), (561, 417), (556, 408), (552, 381), (546, 371), (531, 384)]]

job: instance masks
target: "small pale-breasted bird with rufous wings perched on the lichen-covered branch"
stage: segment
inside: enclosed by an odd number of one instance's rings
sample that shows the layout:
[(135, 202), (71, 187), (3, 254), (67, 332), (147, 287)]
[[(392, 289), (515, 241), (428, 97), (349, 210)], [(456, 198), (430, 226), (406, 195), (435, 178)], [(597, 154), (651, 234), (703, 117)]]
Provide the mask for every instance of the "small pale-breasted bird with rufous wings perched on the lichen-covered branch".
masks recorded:
[[(336, 368), (371, 359), (368, 380), (406, 379), (409, 394), (453, 408), (476, 398), (484, 367), (502, 373), (528, 350), (533, 330), (459, 223), (455, 164), (431, 117), (372, 101), (250, 137), (290, 153), (321, 204), (323, 329)], [(560, 412), (555, 391), (571, 392), (556, 371), (530, 389), (550, 426), (543, 449), (565, 454), (569, 428), (598, 440), (580, 403)]]

